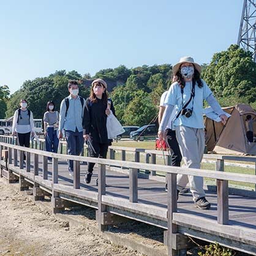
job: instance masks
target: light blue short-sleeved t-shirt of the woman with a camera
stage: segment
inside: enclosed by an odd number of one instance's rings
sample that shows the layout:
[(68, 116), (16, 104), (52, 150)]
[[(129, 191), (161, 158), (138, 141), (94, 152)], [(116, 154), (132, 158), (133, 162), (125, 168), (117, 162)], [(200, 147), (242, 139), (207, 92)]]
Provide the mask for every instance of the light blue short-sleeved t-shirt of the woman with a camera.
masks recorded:
[[(203, 80), (202, 80), (203, 81)], [(175, 115), (179, 113), (183, 105), (185, 105), (191, 96), (192, 90), (192, 81), (187, 82), (184, 87), (183, 99), (181, 94), (181, 88), (177, 82), (173, 83), (168, 90), (167, 97), (165, 97), (164, 104), (169, 104), (175, 106)], [(205, 100), (210, 94), (211, 89), (206, 85), (205, 81), (203, 81), (203, 87), (199, 88), (198, 85), (195, 85), (195, 97), (194, 104), (193, 100), (189, 102), (189, 105), (186, 108), (192, 108), (193, 112), (189, 118), (186, 118), (184, 115), (179, 115), (178, 118), (175, 119), (175, 126), (187, 126), (192, 128), (201, 129), (204, 128), (203, 124), (203, 100)]]

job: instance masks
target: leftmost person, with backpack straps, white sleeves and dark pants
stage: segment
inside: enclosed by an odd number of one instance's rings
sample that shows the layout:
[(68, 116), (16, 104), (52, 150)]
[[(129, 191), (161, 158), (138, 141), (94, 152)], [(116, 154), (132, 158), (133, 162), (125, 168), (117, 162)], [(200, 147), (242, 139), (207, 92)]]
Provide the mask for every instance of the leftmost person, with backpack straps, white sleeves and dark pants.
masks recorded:
[[(30, 136), (34, 137), (34, 119), (33, 113), (28, 108), (28, 102), (25, 99), (20, 100), (20, 108), (18, 108), (13, 116), (12, 135), (18, 137), (18, 145), (29, 148)], [(24, 154), (24, 160), (26, 156)]]

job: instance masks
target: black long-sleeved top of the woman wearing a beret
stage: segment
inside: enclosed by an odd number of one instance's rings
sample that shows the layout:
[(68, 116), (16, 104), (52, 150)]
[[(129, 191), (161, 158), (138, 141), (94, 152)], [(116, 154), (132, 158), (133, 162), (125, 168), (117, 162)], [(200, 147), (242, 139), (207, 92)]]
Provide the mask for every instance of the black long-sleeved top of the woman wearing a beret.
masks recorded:
[[(85, 103), (85, 112), (83, 115), (83, 128), (85, 134), (89, 134), (92, 140), (99, 143), (108, 143), (107, 132), (107, 115), (105, 110), (107, 104), (104, 104), (102, 99), (97, 99), (97, 102), (91, 102), (88, 98)], [(111, 101), (110, 110), (115, 115), (115, 108)]]

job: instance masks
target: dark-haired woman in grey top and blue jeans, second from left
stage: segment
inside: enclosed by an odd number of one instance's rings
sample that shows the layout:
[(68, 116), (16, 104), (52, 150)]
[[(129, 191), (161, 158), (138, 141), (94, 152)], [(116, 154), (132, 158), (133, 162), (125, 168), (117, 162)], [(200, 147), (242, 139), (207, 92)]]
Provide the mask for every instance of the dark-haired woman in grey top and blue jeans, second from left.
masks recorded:
[(59, 139), (57, 130), (59, 127), (59, 113), (55, 110), (53, 101), (47, 102), (47, 111), (43, 115), (45, 129), (45, 146), (48, 152), (58, 152)]

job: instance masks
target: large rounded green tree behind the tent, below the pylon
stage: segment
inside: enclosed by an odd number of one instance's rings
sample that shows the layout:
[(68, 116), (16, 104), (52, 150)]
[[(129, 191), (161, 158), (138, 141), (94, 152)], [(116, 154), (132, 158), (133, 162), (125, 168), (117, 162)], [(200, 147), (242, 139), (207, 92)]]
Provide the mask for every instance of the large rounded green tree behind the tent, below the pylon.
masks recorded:
[(216, 96), (247, 97), (247, 104), (256, 100), (256, 63), (252, 53), (231, 45), (227, 51), (215, 53), (208, 67), (203, 72), (203, 78), (213, 89)]

